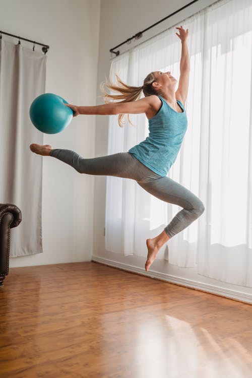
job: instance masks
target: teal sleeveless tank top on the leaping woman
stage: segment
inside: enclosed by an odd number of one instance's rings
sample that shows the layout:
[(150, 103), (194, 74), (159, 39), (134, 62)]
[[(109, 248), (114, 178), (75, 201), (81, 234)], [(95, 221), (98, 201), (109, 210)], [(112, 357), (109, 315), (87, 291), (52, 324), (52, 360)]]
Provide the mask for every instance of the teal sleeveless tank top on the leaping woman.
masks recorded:
[(128, 152), (160, 176), (166, 176), (175, 162), (187, 129), (187, 117), (181, 101), (177, 100), (182, 113), (161, 96), (161, 108), (149, 119), (149, 136)]

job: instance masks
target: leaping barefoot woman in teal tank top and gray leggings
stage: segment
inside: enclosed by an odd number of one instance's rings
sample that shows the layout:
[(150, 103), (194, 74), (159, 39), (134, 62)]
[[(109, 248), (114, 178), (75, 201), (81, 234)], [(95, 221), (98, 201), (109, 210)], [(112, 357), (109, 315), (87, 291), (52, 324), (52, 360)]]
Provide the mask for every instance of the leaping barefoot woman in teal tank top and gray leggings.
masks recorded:
[[(181, 206), (172, 221), (154, 238), (147, 239), (148, 248), (145, 270), (148, 271), (156, 259), (161, 246), (172, 236), (189, 226), (204, 212), (202, 201), (185, 187), (167, 177), (167, 172), (174, 163), (181, 147), (187, 128), (184, 103), (187, 96), (190, 60), (186, 39), (188, 29), (181, 26), (177, 36), (181, 39), (182, 52), (180, 60), (180, 78), (175, 92), (177, 80), (170, 72), (155, 71), (144, 80), (142, 87), (124, 84), (117, 77), (117, 85), (106, 83), (107, 87), (119, 92), (119, 95), (106, 93), (104, 105), (75, 106), (66, 104), (79, 114), (119, 114), (118, 123), (122, 127), (124, 114), (145, 113), (149, 119), (149, 136), (145, 141), (131, 148), (128, 152), (84, 159), (71, 150), (52, 149), (50, 145), (32, 144), (32, 152), (53, 156), (74, 167), (80, 173), (109, 175), (131, 178), (137, 181), (147, 192), (162, 201)], [(145, 97), (139, 99), (141, 93)], [(122, 100), (110, 102), (107, 99)]]

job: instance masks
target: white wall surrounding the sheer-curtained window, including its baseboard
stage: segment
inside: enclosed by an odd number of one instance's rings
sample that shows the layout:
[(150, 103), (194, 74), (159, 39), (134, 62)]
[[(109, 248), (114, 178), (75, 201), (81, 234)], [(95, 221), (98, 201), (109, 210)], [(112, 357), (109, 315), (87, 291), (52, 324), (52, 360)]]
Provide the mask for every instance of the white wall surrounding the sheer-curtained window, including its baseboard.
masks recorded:
[[(200, 0), (192, 6), (182, 10), (179, 14), (155, 26), (144, 33), (139, 41), (132, 41), (130, 47), (148, 39), (177, 23), (184, 25), (183, 20), (213, 4), (215, 0)], [(187, 5), (185, 0), (102, 0), (100, 13), (99, 60), (97, 77), (97, 94), (100, 94), (99, 84), (108, 77), (110, 57), (114, 56), (109, 49), (144, 30), (167, 15)], [(129, 45), (119, 47), (120, 53), (128, 49)], [(99, 103), (102, 103), (100, 100)], [(108, 116), (97, 116), (95, 155), (107, 155)], [(122, 151), (125, 152), (125, 151)], [(184, 269), (169, 265), (167, 261), (156, 260), (151, 269), (156, 273), (146, 273), (145, 258), (137, 256), (122, 256), (105, 250), (105, 201), (106, 177), (95, 177), (94, 192), (94, 261), (99, 261), (121, 269), (146, 274), (159, 279), (169, 280), (188, 287), (200, 288), (205, 291), (220, 293), (244, 301), (251, 301), (251, 289), (242, 286), (226, 284), (217, 280), (198, 275), (197, 269)], [(147, 249), (146, 249), (147, 256)]]

